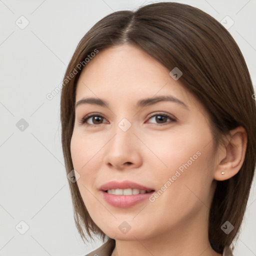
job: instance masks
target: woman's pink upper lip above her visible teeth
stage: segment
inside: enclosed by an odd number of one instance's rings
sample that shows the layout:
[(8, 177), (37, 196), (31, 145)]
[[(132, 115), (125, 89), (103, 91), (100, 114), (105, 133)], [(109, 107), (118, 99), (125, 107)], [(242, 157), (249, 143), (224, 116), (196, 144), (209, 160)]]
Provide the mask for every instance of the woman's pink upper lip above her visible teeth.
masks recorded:
[(143, 186), (141, 184), (138, 184), (138, 183), (135, 183), (133, 181), (130, 181), (130, 180), (124, 180), (124, 181), (109, 181), (105, 184), (103, 184), (102, 186), (100, 186), (100, 190), (102, 191), (106, 191), (108, 189), (117, 189), (117, 188), (120, 188), (120, 189), (125, 189), (125, 188), (137, 188), (139, 190), (146, 190), (147, 192), (150, 192), (152, 190), (154, 190), (153, 188), (150, 188), (150, 187), (146, 187), (146, 186)]

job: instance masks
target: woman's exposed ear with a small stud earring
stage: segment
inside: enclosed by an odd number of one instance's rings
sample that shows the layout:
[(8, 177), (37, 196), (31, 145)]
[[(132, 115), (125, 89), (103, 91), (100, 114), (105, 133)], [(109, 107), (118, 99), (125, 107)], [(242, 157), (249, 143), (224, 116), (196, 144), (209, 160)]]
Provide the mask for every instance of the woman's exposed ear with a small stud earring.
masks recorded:
[[(218, 151), (217, 167), (214, 170), (215, 180), (225, 180), (234, 176), (242, 166), (247, 146), (247, 133), (242, 126), (230, 130), (225, 145)], [(221, 174), (221, 172), (223, 174)]]

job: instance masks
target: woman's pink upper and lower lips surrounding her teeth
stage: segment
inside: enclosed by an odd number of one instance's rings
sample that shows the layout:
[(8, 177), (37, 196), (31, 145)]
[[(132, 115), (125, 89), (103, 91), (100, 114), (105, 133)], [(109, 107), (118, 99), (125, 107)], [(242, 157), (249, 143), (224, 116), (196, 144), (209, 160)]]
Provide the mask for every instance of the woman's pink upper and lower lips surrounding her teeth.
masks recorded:
[[(131, 194), (131, 195), (115, 195), (115, 194), (109, 194), (105, 192), (108, 189), (125, 189), (125, 188), (137, 188), (139, 190), (146, 190), (147, 193), (143, 194)], [(152, 191), (153, 190), (153, 191)], [(100, 193), (102, 194), (104, 200), (109, 203), (112, 206), (120, 207), (120, 208), (128, 208), (131, 207), (141, 201), (144, 201), (147, 199), (150, 195), (152, 195), (154, 192), (154, 189), (145, 187), (143, 185), (140, 185), (138, 183), (125, 180), (122, 182), (118, 181), (110, 181), (105, 184), (103, 184), (100, 187)]]

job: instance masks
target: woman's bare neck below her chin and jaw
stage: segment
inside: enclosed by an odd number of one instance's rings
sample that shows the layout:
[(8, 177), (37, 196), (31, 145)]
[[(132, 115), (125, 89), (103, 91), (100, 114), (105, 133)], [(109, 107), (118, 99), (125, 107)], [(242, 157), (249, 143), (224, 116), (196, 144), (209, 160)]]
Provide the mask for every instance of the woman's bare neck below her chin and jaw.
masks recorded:
[[(204, 212), (205, 213), (205, 212)], [(111, 256), (221, 256), (208, 240), (207, 214), (194, 216), (171, 228), (171, 232), (157, 234), (145, 239), (133, 235), (134, 240), (115, 240)]]

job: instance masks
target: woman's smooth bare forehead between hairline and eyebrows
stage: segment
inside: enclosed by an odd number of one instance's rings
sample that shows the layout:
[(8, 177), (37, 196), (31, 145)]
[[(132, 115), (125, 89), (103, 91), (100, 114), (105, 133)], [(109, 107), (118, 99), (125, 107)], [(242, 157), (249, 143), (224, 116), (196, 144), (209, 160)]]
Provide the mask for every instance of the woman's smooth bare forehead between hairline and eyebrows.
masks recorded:
[(164, 65), (145, 51), (128, 44), (99, 51), (83, 68), (76, 86), (76, 102), (82, 97), (134, 101), (172, 95), (187, 105), (196, 100), (169, 75)]

